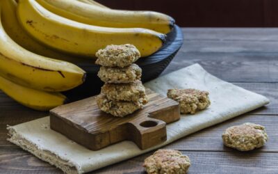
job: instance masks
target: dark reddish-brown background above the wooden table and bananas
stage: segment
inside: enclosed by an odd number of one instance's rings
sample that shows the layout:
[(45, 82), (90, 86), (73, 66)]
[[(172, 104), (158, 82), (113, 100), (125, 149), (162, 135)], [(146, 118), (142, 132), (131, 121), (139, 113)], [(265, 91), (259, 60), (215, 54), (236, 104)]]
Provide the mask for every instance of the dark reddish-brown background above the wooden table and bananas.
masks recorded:
[(277, 0), (97, 0), (115, 9), (156, 10), (186, 27), (277, 27)]

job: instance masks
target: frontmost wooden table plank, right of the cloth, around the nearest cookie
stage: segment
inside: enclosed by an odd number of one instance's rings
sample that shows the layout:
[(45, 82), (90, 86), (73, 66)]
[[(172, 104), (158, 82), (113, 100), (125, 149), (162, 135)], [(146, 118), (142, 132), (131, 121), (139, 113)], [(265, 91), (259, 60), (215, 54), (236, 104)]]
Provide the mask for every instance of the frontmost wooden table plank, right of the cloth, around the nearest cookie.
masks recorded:
[[(142, 163), (147, 155), (133, 158), (129, 161), (121, 162), (103, 168), (95, 173), (99, 174), (135, 174), (144, 173)], [(259, 152), (190, 152), (183, 151), (183, 155), (190, 157), (191, 166), (188, 174), (192, 173), (277, 173), (278, 156), (277, 153)]]

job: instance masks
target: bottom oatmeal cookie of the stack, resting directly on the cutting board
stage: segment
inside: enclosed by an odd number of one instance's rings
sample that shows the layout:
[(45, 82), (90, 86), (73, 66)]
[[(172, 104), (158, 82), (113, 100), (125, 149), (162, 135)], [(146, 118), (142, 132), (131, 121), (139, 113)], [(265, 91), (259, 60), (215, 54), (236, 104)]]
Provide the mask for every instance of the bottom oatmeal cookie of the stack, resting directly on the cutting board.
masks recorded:
[(97, 96), (97, 106), (101, 111), (106, 113), (110, 113), (116, 117), (124, 117), (133, 113), (138, 109), (142, 109), (142, 102), (117, 102), (113, 100), (108, 100), (108, 98), (104, 94), (100, 94)]

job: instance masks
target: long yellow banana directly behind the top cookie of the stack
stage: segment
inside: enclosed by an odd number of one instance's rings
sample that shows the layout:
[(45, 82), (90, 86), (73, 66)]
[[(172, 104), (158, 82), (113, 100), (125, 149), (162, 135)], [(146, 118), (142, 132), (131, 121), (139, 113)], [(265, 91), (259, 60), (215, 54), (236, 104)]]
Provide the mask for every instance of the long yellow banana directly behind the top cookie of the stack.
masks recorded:
[(149, 56), (165, 41), (164, 34), (149, 29), (115, 29), (75, 22), (49, 12), (35, 0), (19, 0), (17, 18), (30, 35), (45, 45), (92, 58), (106, 45), (126, 43), (135, 45), (141, 56)]

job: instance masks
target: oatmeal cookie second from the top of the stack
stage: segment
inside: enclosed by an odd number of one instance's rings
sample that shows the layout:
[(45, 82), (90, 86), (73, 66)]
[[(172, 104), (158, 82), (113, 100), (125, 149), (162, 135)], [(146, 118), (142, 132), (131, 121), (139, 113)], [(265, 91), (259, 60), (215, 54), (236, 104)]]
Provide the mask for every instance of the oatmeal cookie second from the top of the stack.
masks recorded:
[(101, 81), (113, 84), (126, 84), (141, 79), (142, 70), (136, 64), (125, 68), (101, 67), (97, 74)]

